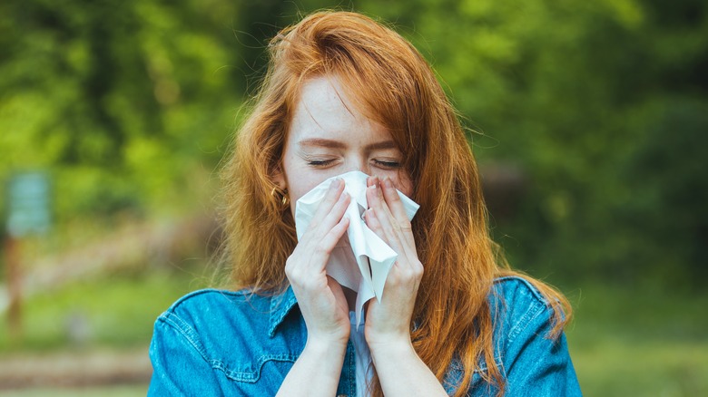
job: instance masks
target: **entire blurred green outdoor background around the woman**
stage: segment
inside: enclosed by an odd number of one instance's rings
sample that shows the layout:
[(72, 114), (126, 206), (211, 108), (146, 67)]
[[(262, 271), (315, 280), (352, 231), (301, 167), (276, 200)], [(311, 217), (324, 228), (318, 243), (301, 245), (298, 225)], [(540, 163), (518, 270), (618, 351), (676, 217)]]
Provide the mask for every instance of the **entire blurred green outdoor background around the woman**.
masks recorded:
[(144, 395), (210, 286), (218, 169), (279, 28), (375, 15), (460, 111), (510, 262), (575, 307), (585, 395), (708, 394), (708, 3), (0, 3), (0, 395)]

